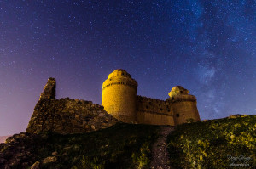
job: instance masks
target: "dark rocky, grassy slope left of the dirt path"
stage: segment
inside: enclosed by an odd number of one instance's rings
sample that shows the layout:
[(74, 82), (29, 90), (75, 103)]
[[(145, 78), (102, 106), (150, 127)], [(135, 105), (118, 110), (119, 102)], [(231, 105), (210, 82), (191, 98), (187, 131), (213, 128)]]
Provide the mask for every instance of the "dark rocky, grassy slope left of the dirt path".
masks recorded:
[(96, 132), (21, 132), (0, 144), (0, 168), (147, 168), (158, 126), (118, 123)]

